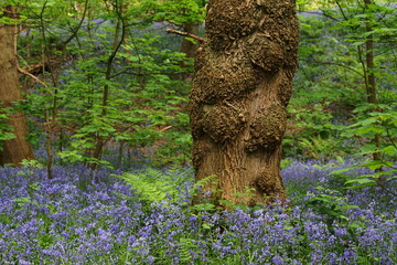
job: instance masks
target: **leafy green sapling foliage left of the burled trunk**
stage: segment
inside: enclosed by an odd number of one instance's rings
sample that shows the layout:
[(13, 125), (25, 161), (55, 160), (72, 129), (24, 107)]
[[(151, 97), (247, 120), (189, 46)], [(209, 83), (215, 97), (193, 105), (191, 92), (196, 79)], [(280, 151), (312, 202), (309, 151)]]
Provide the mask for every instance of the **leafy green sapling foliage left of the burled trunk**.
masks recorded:
[[(176, 52), (175, 43), (181, 39), (162, 32), (152, 21), (136, 23), (154, 1), (112, 8), (97, 3), (89, 2), (89, 14), (85, 14), (84, 21), (84, 2), (76, 3), (79, 10), (68, 2), (58, 10), (49, 1), (21, 7), (22, 12), (41, 15), (34, 17), (34, 24), (40, 26), (32, 26), (20, 38), (23, 63), (41, 62), (43, 46), (46, 56), (60, 63), (56, 74), (39, 76), (50, 83), (47, 87), (25, 88), (33, 93), (26, 95), (24, 108), (39, 121), (39, 127), (45, 128), (34, 130), (51, 134), (57, 148), (55, 152), (69, 162), (104, 165), (103, 149), (124, 145), (121, 152), (139, 150), (150, 157), (154, 166), (186, 163), (191, 147), (185, 112), (190, 84), (175, 77), (192, 68), (180, 67), (185, 55)], [(173, 4), (179, 3), (170, 1), (160, 6), (170, 9)], [(192, 17), (194, 11), (173, 15), (183, 21), (182, 17)], [(130, 25), (125, 41), (115, 50), (121, 38), (121, 19)], [(58, 51), (57, 44), (62, 46), (62, 43), (67, 45)], [(119, 157), (125, 157), (122, 155)]]

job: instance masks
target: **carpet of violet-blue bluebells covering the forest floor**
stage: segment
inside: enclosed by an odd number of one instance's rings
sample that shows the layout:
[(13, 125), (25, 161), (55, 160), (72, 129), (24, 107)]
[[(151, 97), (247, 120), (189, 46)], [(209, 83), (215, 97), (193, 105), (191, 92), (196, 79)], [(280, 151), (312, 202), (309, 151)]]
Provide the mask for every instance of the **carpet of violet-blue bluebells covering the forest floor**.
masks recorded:
[(149, 203), (117, 170), (0, 168), (0, 264), (397, 264), (396, 198), (342, 189), (347, 166), (293, 161), (290, 206), (234, 211), (192, 208), (192, 177)]

